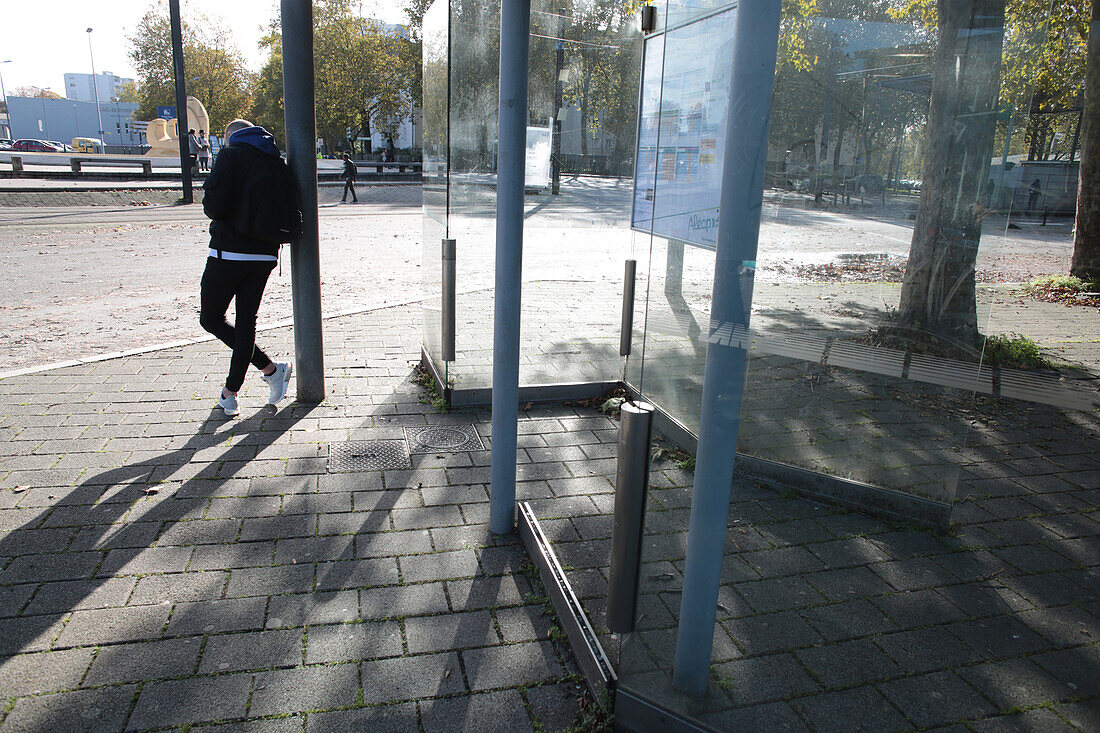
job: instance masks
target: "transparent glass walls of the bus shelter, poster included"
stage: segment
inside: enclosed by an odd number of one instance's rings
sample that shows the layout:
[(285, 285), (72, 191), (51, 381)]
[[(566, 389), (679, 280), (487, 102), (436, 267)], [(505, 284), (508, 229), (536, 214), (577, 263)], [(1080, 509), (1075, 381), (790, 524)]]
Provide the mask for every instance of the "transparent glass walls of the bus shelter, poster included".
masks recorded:
[[(1005, 69), (1046, 28), (1007, 33), (1003, 3), (985, 6), (1000, 10), (937, 24), (872, 3), (783, 17), (746, 328), (711, 311), (737, 3), (658, 0), (642, 33), (622, 2), (532, 0), (521, 400), (620, 387), (694, 452), (707, 349), (743, 349), (738, 481), (932, 527), (1005, 460), (1056, 478), (1067, 441), (1094, 452), (1096, 309), (1020, 305), (1068, 269), (1077, 151), (1028, 160), (1033, 90)], [(425, 15), (424, 361), (455, 406), (492, 390), (498, 29), (482, 0)], [(663, 489), (638, 630), (607, 632), (606, 584), (574, 599), (619, 691), (722, 730), (737, 704), (717, 677), (672, 686), (691, 492)], [(751, 521), (730, 514), (728, 555)], [(744, 653), (725, 593), (716, 668)]]

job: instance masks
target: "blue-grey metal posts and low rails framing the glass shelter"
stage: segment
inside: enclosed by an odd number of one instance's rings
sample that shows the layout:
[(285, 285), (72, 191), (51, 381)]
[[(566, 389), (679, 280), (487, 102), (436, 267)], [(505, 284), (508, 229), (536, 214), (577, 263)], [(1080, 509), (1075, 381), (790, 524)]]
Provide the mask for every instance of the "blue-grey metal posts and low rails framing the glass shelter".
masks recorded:
[[(727, 3), (723, 9), (729, 9)], [(516, 450), (517, 406), (521, 401), (559, 401), (596, 396), (623, 382), (587, 382), (521, 387), (520, 302), (522, 282), (520, 266), (524, 251), (524, 176), (526, 155), (528, 54), (530, 33), (530, 0), (503, 0), (499, 45), (499, 132), (496, 163), (496, 252), (493, 330), (493, 382), (491, 390), (472, 390), (461, 394), (455, 403), (484, 404), (492, 401), (492, 483), (490, 528), (495, 534), (510, 533), (517, 527)], [(774, 59), (779, 34), (780, 3), (766, 0), (737, 7), (734, 61), (723, 161), (721, 207), (722, 226), (717, 233), (716, 271), (713, 282), (712, 322), (747, 328), (749, 313), (746, 288), (751, 288), (751, 274), (746, 277), (745, 264), (756, 260), (763, 193), (765, 156)], [(663, 31), (661, 31), (663, 32)], [(737, 175), (728, 175), (730, 171)], [(727, 216), (728, 212), (728, 216)], [(430, 250), (429, 250), (430, 251)], [(443, 360), (454, 359), (454, 240), (443, 240), (442, 306), (440, 340)], [(632, 282), (627, 272), (628, 285)], [(624, 294), (624, 339), (629, 337), (628, 314), (632, 313), (632, 294)], [(629, 353), (628, 344), (624, 347)], [(711, 661), (711, 638), (715, 623), (715, 599), (721, 582), (723, 541), (730, 490), (734, 479), (735, 452), (744, 381), (747, 346), (736, 341), (707, 348), (703, 386), (702, 429), (697, 439), (697, 464), (694, 501), (689, 532), (689, 550), (681, 606), (680, 632), (674, 661), (678, 689), (693, 693), (706, 686)], [(437, 383), (444, 385), (448, 400), (460, 397), (446, 379), (442, 364), (429, 349), (424, 350), (422, 364)], [(637, 397), (637, 395), (636, 395)], [(691, 434), (662, 416), (663, 431), (681, 441), (695, 442)], [(649, 431), (640, 431), (648, 450)], [(635, 440), (638, 442), (638, 440)], [(695, 447), (695, 446), (693, 446)], [(644, 460), (648, 453), (642, 451)], [(623, 438), (620, 438), (620, 472)], [(644, 477), (644, 472), (642, 472)], [(642, 489), (645, 479), (642, 478)], [(565, 573), (554, 557), (535, 512), (527, 503), (518, 505), (518, 530), (529, 555), (539, 567), (540, 576), (563, 622), (574, 653), (585, 672), (590, 688), (600, 699), (601, 691), (616, 690), (617, 724), (636, 730), (701, 730), (674, 711), (662, 709), (641, 697), (617, 689), (616, 674), (588, 624), (576, 595), (570, 589)], [(635, 550), (636, 551), (636, 550)], [(637, 558), (635, 558), (637, 559)], [(613, 558), (613, 564), (615, 562)], [(615, 570), (613, 569), (613, 573)], [(636, 591), (635, 591), (636, 592)], [(630, 600), (632, 609), (632, 600)], [(656, 726), (656, 727), (654, 727)]]

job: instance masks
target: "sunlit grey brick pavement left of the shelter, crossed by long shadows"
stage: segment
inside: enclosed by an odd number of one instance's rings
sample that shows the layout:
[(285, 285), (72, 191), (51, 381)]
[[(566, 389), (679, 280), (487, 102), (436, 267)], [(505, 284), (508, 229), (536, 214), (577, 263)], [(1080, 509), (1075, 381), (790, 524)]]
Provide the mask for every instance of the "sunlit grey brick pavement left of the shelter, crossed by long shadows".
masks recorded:
[(250, 378), (231, 420), (220, 344), (0, 381), (0, 731), (572, 724), (570, 652), (518, 540), (487, 534), (488, 450), (327, 470), (404, 427), (488, 446), (486, 415), (420, 401), (418, 322), (327, 321), (326, 402), (264, 407)]

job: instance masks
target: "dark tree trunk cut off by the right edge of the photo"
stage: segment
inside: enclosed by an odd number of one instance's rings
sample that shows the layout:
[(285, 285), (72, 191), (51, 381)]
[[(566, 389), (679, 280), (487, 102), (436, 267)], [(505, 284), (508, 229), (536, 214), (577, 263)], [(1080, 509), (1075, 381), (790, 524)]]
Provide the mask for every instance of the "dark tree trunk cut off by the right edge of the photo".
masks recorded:
[(1077, 228), (1069, 274), (1100, 280), (1100, 2), (1092, 2), (1088, 67), (1085, 72), (1085, 111), (1081, 167), (1077, 182)]

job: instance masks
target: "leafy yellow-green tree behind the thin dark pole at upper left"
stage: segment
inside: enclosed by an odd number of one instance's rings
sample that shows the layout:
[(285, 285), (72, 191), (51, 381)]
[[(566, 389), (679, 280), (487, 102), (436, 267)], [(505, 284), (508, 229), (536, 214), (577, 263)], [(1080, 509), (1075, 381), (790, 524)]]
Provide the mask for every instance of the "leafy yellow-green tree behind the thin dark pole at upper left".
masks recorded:
[[(198, 15), (193, 22), (185, 19), (182, 25), (187, 94), (202, 102), (210, 116), (210, 132), (218, 133), (232, 120), (248, 114), (253, 74), (224, 23)], [(164, 0), (150, 8), (129, 42), (139, 84), (134, 117), (151, 120), (156, 117), (157, 106), (176, 103), (172, 25)]]

